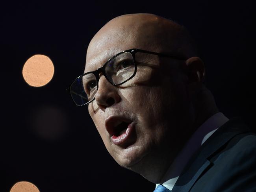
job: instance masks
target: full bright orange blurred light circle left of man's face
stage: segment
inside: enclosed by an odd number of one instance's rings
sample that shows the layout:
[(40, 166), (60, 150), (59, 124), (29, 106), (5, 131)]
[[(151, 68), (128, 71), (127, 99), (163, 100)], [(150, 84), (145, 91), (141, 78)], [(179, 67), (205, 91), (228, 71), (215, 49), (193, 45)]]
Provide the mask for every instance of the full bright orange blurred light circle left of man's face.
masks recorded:
[(50, 82), (54, 74), (54, 65), (45, 55), (33, 55), (23, 66), (22, 76), (28, 85), (41, 87)]

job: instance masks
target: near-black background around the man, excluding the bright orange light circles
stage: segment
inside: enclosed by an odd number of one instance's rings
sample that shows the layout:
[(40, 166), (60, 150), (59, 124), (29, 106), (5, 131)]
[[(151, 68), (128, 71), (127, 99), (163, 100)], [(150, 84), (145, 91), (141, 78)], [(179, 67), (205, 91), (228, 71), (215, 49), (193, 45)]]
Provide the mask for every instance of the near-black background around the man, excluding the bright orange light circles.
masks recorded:
[[(83, 73), (90, 39), (109, 20), (155, 13), (183, 24), (198, 42), (208, 88), (228, 118), (255, 131), (255, 6), (252, 1), (10, 2), (0, 5), (0, 192), (30, 181), (41, 192), (153, 191), (121, 168), (89, 118), (66, 92)], [(30, 87), (22, 67), (34, 54), (52, 59), (48, 85)]]

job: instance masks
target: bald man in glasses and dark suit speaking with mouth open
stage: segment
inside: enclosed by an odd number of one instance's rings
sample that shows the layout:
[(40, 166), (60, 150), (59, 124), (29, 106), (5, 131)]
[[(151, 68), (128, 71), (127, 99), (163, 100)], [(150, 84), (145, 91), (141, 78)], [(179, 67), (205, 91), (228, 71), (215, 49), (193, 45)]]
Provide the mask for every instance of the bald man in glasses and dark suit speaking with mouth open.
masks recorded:
[(70, 93), (115, 161), (156, 191), (256, 190), (256, 137), (219, 113), (204, 76), (184, 27), (130, 14), (96, 33)]

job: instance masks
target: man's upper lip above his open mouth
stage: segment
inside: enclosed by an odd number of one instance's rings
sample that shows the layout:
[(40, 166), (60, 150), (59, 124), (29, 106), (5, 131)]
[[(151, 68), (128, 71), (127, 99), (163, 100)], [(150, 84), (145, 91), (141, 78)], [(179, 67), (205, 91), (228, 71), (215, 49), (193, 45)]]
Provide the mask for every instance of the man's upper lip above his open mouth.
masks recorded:
[(110, 137), (112, 137), (115, 134), (115, 127), (117, 127), (122, 122), (130, 123), (132, 122), (132, 120), (124, 116), (109, 116), (105, 120), (105, 127)]

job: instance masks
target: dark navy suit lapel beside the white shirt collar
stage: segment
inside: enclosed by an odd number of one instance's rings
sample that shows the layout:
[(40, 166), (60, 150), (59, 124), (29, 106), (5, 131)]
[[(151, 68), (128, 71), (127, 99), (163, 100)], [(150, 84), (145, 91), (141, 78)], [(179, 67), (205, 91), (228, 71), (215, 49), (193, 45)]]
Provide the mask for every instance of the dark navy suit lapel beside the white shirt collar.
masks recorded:
[(217, 129), (189, 160), (172, 192), (189, 192), (200, 176), (213, 165), (211, 157), (221, 151), (230, 139), (249, 131), (250, 129), (243, 124), (241, 118), (229, 120)]

